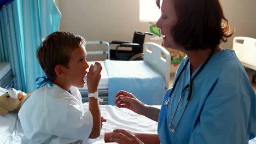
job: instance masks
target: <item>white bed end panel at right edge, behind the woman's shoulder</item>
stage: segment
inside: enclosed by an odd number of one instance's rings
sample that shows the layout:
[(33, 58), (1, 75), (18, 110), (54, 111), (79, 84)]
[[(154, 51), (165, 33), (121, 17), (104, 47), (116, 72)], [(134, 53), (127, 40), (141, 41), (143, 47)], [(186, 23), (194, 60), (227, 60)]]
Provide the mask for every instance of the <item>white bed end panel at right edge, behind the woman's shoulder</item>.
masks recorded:
[(256, 79), (256, 39), (235, 37), (233, 40), (233, 50), (244, 67), (254, 70), (252, 77), (252, 82), (254, 83)]

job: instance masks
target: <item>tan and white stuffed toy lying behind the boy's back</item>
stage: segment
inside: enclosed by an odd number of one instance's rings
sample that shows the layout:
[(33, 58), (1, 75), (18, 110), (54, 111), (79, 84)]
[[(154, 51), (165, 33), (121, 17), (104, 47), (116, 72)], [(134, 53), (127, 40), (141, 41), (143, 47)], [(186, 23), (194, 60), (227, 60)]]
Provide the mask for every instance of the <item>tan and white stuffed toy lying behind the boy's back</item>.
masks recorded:
[(0, 96), (0, 115), (6, 115), (11, 111), (19, 112), (22, 101), (30, 94), (30, 92), (26, 94), (11, 88), (7, 93)]

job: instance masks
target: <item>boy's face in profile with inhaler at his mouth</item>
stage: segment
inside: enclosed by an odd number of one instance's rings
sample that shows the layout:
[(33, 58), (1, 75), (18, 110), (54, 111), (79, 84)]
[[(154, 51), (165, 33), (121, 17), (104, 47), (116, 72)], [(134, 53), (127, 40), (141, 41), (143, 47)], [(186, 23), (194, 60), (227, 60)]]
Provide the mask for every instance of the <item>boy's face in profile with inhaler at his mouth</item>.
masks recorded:
[(85, 59), (86, 55), (84, 45), (82, 45), (80, 49), (75, 49), (71, 52), (68, 69), (66, 69), (66, 79), (69, 85), (79, 88), (84, 87), (84, 76), (87, 73), (86, 69), (89, 68)]

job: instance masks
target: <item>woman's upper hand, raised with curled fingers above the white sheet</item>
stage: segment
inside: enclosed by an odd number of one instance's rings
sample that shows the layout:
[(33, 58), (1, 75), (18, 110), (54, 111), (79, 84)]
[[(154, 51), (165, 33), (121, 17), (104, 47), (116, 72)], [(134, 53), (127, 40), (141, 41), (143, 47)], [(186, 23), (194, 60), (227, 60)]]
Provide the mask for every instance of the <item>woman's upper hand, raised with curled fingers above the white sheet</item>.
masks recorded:
[(133, 94), (122, 90), (115, 94), (115, 97), (117, 99), (115, 99), (114, 103), (117, 107), (125, 107), (138, 114), (142, 113), (145, 104), (139, 101)]

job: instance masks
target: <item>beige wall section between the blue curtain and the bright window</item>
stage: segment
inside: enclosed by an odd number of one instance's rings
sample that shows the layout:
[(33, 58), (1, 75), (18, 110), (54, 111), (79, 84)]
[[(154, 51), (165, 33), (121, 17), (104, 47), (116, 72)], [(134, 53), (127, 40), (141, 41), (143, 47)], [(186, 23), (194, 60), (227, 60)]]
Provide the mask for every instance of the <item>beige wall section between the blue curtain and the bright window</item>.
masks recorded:
[[(150, 32), (149, 22), (139, 22), (139, 0), (59, 0), (58, 6), (60, 30), (80, 34), (86, 40), (132, 41), (135, 31)], [(146, 35), (145, 41), (161, 44), (161, 40), (149, 38)], [(89, 61), (94, 60), (89, 57)]]

